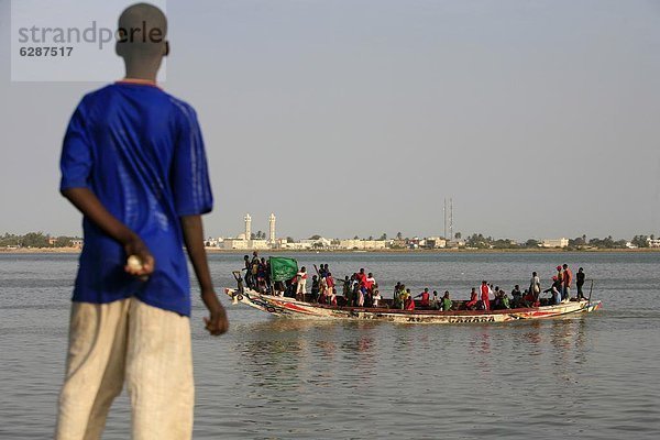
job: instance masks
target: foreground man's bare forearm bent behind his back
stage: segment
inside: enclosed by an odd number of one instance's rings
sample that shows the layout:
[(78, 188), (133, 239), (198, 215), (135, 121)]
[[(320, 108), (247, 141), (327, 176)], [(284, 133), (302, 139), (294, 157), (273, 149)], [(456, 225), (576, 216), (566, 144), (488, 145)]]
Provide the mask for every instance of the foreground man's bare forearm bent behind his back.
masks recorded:
[(63, 190), (62, 195), (105, 233), (121, 243), (127, 256), (136, 255), (141, 260), (141, 268), (125, 265), (124, 268), (128, 273), (135, 276), (148, 276), (154, 272), (154, 257), (142, 239), (108, 212), (92, 191), (87, 188), (69, 188)]

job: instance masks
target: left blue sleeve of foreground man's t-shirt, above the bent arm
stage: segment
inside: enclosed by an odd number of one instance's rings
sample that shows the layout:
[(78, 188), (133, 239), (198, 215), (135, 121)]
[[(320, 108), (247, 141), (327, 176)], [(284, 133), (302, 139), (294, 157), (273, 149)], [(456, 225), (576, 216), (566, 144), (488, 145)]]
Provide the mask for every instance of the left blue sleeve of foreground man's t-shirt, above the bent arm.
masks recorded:
[(59, 190), (89, 188), (92, 155), (85, 119), (85, 109), (80, 102), (69, 121), (62, 145)]

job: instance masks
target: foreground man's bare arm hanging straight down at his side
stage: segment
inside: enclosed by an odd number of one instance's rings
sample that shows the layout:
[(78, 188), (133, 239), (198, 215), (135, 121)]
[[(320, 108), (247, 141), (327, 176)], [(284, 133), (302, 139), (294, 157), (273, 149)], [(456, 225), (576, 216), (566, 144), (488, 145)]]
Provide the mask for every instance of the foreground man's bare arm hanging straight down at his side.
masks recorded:
[(204, 249), (204, 227), (201, 216), (182, 217), (182, 229), (184, 241), (188, 250), (188, 256), (195, 268), (195, 275), (199, 282), (201, 300), (209, 310), (210, 317), (205, 318), (206, 329), (213, 336), (224, 333), (229, 328), (229, 320), (224, 307), (218, 300), (213, 290), (213, 283), (209, 272), (209, 264)]

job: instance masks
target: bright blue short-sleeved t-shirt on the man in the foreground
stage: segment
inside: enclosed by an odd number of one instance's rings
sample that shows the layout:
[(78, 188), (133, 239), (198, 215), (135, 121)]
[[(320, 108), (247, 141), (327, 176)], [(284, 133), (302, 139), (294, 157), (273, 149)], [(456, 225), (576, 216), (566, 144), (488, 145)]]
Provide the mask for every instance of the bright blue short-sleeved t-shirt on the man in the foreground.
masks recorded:
[(69, 122), (61, 168), (61, 190), (90, 189), (155, 258), (148, 280), (127, 274), (123, 246), (85, 218), (73, 300), (106, 304), (135, 296), (189, 316), (179, 217), (209, 212), (213, 205), (193, 108), (144, 84), (116, 82), (86, 95)]

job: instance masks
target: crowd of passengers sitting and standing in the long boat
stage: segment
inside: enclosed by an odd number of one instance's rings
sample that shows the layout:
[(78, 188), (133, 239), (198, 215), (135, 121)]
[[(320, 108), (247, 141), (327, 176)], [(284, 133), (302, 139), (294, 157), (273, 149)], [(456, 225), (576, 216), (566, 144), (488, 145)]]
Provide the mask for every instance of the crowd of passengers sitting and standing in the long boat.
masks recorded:
[[(524, 290), (520, 289), (519, 285), (515, 285), (510, 294), (507, 294), (499, 286), (493, 286), (492, 283), (483, 280), (479, 288), (472, 288), (470, 299), (457, 301), (451, 298), (449, 290), (444, 290), (442, 296), (439, 297), (438, 290), (431, 293), (428, 287), (414, 296), (409, 287), (398, 282), (394, 287), (393, 299), (384, 300), (373, 273), (360, 268), (352, 275), (346, 275), (339, 285), (328, 264), (315, 265), (316, 275), (311, 276), (310, 293), (308, 294), (308, 271), (305, 266), (300, 267), (293, 278), (272, 283), (270, 262), (266, 258), (260, 258), (257, 253), (254, 252), (252, 260), (249, 255), (245, 255), (244, 262), (245, 283), (249, 288), (263, 294), (287, 296), (329, 306), (388, 307), (402, 310), (440, 311), (502, 310), (559, 305), (571, 299), (585, 299), (583, 292), (584, 268), (580, 267), (573, 276), (573, 272), (568, 264), (557, 266), (557, 273), (552, 276), (552, 284), (544, 290), (541, 289), (540, 277), (536, 272), (532, 272), (529, 287)], [(571, 298), (573, 278), (575, 278), (578, 288), (575, 298)], [(341, 296), (339, 295), (340, 289)], [(542, 298), (541, 294), (550, 294), (550, 296)]]

